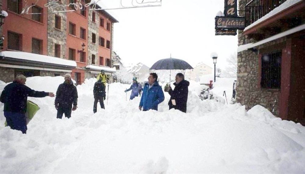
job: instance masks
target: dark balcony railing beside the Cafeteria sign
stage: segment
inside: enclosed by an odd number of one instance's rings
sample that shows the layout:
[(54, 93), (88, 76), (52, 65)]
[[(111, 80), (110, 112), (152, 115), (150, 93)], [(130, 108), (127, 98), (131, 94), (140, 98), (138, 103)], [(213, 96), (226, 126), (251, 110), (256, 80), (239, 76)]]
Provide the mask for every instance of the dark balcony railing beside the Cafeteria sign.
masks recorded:
[(252, 0), (246, 4), (246, 26), (251, 25), (287, 0)]

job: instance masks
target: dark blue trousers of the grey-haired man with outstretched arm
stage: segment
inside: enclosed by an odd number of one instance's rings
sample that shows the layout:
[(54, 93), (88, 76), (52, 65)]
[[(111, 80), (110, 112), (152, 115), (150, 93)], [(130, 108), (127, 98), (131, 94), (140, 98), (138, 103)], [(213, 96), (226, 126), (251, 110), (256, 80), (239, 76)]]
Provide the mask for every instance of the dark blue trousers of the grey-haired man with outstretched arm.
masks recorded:
[(4, 111), (4, 117), (6, 118), (7, 125), (11, 129), (21, 131), (23, 134), (27, 133), (27, 119), (24, 113)]

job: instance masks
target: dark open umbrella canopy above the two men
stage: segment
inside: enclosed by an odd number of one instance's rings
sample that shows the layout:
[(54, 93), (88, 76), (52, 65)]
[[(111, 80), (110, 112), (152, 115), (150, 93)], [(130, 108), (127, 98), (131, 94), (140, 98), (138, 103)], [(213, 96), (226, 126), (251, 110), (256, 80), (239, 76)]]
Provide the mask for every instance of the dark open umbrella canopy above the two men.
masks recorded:
[(181, 59), (167, 58), (161, 59), (152, 65), (150, 69), (194, 69), (190, 64)]

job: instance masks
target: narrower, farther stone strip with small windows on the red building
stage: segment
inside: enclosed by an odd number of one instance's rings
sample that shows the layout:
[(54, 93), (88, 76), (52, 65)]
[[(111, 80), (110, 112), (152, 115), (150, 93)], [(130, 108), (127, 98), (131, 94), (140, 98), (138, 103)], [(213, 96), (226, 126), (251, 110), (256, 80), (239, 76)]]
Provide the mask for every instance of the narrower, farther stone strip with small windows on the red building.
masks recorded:
[[(93, 12), (95, 12), (95, 22), (92, 21)], [(99, 59), (99, 20), (99, 12), (88, 10), (88, 65), (92, 64), (92, 54), (95, 55), (95, 65), (97, 65)], [(92, 33), (95, 33), (95, 43), (92, 43)]]

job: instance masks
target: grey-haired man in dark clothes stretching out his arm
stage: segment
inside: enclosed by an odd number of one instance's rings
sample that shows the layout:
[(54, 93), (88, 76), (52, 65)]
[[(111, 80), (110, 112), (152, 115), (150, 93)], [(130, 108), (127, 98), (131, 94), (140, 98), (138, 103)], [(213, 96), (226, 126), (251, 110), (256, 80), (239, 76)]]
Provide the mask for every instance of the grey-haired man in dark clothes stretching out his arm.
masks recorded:
[(0, 101), (4, 103), (4, 117), (11, 129), (27, 133), (27, 97), (54, 97), (53, 92), (34, 91), (25, 85), (27, 78), (17, 75), (13, 83), (6, 85)]

